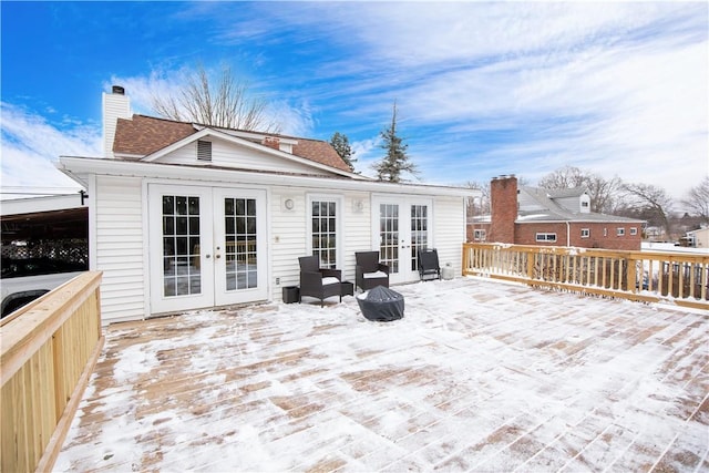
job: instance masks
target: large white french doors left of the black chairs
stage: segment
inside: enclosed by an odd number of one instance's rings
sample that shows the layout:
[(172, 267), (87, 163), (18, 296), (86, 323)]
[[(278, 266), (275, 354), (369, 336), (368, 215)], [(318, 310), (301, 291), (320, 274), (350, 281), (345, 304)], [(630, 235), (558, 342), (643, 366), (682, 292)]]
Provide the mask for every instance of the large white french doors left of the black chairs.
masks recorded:
[(148, 186), (152, 312), (268, 296), (266, 192)]

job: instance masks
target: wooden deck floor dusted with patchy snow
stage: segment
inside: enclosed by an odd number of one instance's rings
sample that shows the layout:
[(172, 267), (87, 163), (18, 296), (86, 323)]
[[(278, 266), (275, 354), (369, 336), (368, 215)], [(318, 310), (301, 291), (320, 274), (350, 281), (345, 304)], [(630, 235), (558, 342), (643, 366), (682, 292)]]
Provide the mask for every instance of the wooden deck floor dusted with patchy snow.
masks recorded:
[(709, 470), (707, 313), (394, 289), (388, 323), (346, 297), (110, 327), (55, 470)]

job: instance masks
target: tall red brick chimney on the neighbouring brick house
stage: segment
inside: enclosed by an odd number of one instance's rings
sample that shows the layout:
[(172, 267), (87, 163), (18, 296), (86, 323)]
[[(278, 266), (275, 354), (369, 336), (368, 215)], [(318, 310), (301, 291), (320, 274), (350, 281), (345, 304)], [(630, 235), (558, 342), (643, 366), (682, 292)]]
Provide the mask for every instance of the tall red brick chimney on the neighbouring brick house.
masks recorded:
[(491, 226), (487, 241), (514, 243), (517, 219), (517, 178), (494, 177), (490, 183)]

